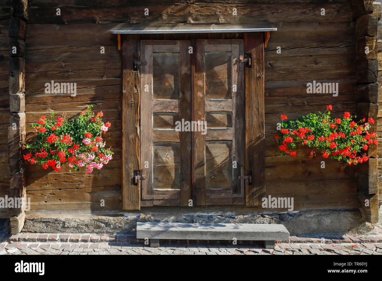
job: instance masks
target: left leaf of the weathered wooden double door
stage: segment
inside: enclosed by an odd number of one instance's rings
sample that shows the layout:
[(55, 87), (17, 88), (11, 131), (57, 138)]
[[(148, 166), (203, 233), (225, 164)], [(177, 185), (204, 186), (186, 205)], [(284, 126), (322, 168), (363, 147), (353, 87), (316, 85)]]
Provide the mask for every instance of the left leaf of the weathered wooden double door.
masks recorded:
[(141, 206), (186, 206), (191, 199), (189, 41), (141, 41)]

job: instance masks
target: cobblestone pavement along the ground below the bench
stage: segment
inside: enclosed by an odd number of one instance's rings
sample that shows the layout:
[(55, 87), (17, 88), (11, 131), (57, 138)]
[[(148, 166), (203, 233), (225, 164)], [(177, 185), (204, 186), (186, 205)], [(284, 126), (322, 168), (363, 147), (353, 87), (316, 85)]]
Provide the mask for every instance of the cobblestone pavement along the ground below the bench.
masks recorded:
[(143, 247), (141, 243), (2, 242), (0, 255), (382, 255), (382, 243), (279, 243), (275, 249), (262, 249), (262, 245), (163, 246)]

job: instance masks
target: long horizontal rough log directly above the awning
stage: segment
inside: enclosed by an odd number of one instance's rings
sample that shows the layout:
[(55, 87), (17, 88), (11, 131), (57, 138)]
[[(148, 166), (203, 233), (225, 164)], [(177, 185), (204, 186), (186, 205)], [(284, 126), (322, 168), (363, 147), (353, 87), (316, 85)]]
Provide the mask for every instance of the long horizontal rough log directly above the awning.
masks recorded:
[[(198, 3), (175, 5), (113, 5), (105, 10), (104, 5), (92, 6), (62, 6), (60, 16), (55, 10), (47, 6), (31, 6), (29, 8), (29, 21), (31, 23), (69, 24), (69, 23), (232, 23), (238, 17), (232, 15), (236, 8), (240, 14), (240, 22), (254, 22), (264, 26), (264, 22), (283, 21), (322, 21), (320, 9), (325, 8), (325, 20), (344, 22), (351, 21), (350, 3)], [(144, 15), (144, 8), (149, 9), (149, 15)], [(45, 15), (45, 16), (40, 16)], [(269, 24), (267, 24), (269, 26)]]

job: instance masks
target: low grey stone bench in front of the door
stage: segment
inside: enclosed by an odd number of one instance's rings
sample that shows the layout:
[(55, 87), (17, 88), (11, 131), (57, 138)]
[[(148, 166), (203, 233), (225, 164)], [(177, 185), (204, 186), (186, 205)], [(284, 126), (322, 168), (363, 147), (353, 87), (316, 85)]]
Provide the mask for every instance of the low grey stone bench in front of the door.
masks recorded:
[(275, 240), (289, 240), (289, 232), (282, 224), (137, 222), (137, 238), (150, 239), (151, 247), (159, 247), (159, 239), (261, 240), (274, 249)]

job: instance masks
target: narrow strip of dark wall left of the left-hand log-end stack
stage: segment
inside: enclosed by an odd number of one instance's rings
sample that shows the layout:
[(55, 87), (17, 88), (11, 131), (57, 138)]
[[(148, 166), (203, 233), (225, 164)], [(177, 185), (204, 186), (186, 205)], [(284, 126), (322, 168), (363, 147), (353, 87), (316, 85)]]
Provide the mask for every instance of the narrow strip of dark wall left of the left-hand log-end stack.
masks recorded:
[[(8, 195), (8, 127), (9, 127), (9, 23), (11, 0), (0, 0), (0, 197)], [(9, 211), (0, 208), (0, 218), (9, 218)]]

